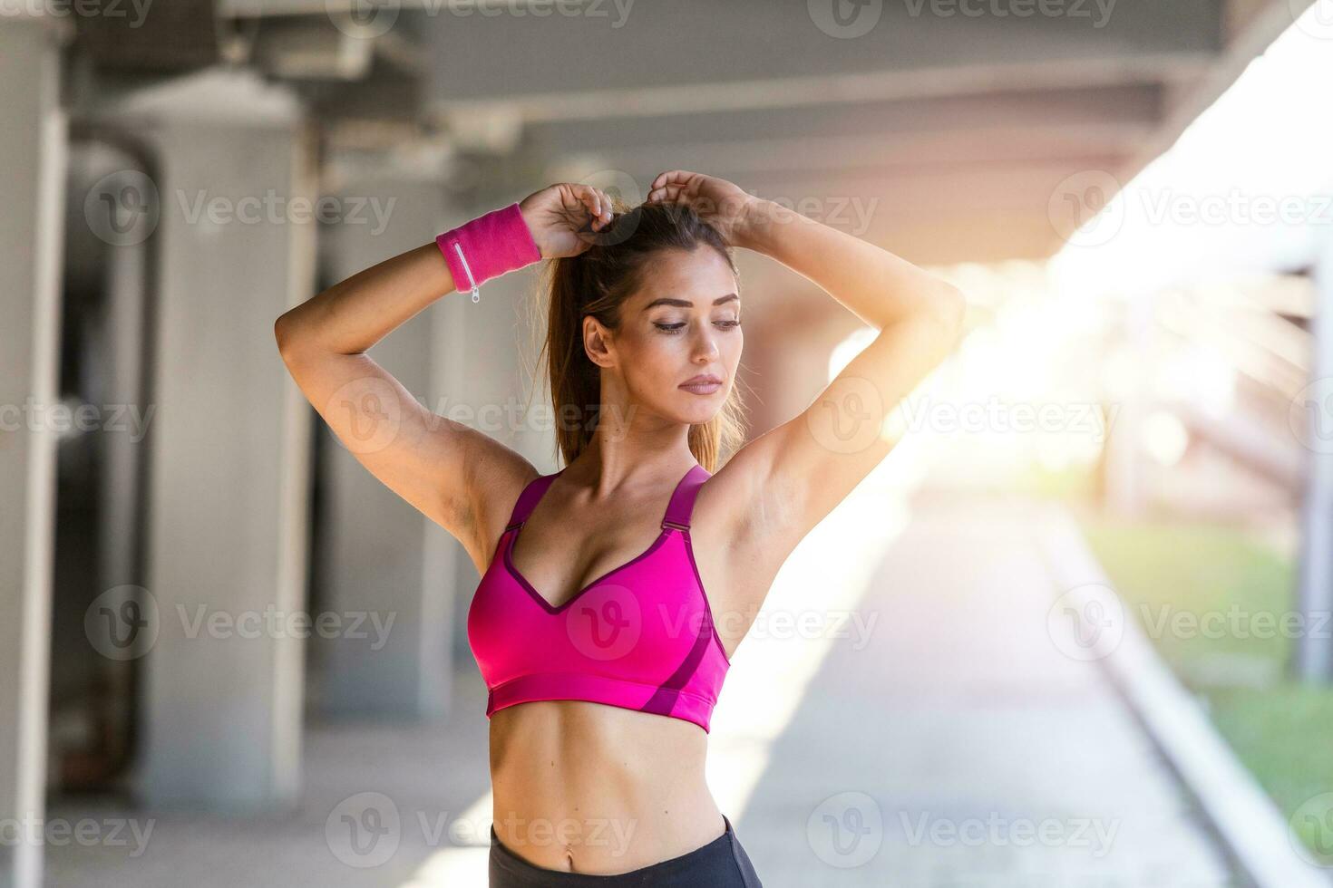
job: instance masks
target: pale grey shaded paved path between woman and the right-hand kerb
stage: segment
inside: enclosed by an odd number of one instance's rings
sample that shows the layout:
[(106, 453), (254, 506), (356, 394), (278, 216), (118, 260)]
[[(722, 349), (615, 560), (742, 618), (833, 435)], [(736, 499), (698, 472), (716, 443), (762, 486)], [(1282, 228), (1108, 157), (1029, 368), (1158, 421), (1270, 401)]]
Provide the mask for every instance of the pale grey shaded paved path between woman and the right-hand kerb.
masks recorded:
[(1242, 884), (1100, 667), (1052, 640), (1038, 510), (912, 514), (858, 603), (869, 643), (829, 648), (740, 820), (765, 884)]

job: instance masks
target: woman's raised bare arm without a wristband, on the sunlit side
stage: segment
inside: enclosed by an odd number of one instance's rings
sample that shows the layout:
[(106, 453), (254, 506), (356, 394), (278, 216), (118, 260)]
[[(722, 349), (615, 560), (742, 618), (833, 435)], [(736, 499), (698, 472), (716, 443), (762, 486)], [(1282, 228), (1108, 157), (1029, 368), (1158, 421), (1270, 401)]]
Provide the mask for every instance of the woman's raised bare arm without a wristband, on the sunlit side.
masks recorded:
[(730, 244), (786, 265), (878, 330), (800, 415), (741, 447), (700, 494), (696, 509), (730, 541), (728, 560), (777, 560), (776, 571), (892, 450), (885, 419), (956, 345), (962, 294), (873, 244), (724, 180), (672, 170), (653, 181), (649, 200), (694, 206)]

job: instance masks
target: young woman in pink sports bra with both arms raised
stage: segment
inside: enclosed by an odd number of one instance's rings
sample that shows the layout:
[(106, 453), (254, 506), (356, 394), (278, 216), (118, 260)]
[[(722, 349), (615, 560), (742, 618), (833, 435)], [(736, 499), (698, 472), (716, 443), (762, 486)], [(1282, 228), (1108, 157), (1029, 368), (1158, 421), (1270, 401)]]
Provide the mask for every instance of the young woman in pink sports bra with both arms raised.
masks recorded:
[[(737, 246), (878, 330), (744, 446)], [(549, 475), (365, 354), (441, 296), (476, 298), (479, 278), (539, 258), (565, 461)], [(778, 567), (889, 451), (889, 410), (961, 314), (953, 286), (880, 248), (672, 170), (632, 210), (552, 185), (277, 320), (324, 421), (481, 574), (468, 638), (489, 688), (492, 885), (760, 884), (704, 780), (717, 691)]]

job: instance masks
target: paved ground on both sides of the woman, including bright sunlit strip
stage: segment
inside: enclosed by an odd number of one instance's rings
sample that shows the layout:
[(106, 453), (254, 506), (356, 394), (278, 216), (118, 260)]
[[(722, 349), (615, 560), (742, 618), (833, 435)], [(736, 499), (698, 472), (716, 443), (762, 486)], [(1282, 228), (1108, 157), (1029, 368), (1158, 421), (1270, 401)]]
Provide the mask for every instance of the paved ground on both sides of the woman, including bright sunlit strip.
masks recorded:
[[(1052, 642), (1038, 510), (853, 499), (784, 566), (714, 712), (709, 781), (768, 888), (1241, 884), (1100, 668)], [(51, 847), (48, 884), (484, 885), (484, 692), (457, 687), (448, 726), (309, 731), (292, 815), (64, 803), (155, 820), (135, 857), (129, 831)], [(349, 823), (388, 839), (353, 851)]]

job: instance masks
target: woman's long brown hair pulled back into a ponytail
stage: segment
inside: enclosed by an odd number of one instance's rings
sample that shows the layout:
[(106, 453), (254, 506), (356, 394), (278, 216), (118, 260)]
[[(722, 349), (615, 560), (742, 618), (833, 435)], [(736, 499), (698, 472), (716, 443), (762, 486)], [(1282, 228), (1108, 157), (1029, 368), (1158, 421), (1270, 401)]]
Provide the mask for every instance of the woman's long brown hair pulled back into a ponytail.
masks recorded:
[[(552, 260), (544, 269), (543, 292), (549, 305), (543, 351), (556, 442), (567, 466), (592, 441), (601, 403), (601, 367), (584, 351), (584, 317), (591, 314), (608, 329), (617, 329), (621, 304), (639, 289), (648, 264), (664, 250), (688, 253), (709, 246), (736, 273), (726, 241), (694, 210), (680, 204), (640, 204), (633, 209), (620, 201), (613, 204), (615, 217), (593, 234), (595, 242), (587, 250)], [(742, 439), (744, 405), (733, 385), (712, 419), (689, 427), (689, 450), (698, 465), (717, 471), (722, 453), (734, 453)]]

